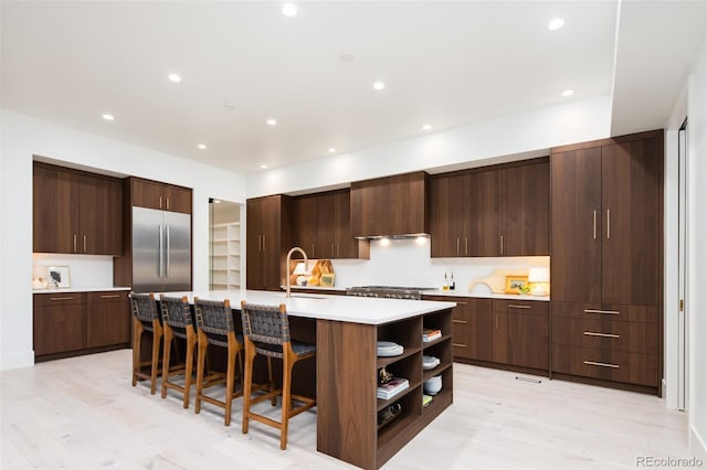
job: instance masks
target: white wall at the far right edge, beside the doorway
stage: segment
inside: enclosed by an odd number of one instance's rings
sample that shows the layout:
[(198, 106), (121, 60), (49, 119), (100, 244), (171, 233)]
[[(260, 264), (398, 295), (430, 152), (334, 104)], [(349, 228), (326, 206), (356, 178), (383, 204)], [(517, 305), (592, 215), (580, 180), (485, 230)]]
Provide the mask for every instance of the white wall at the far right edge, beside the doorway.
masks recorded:
[(707, 289), (701, 285), (707, 269), (707, 35), (688, 83), (688, 350), (690, 437), (707, 456)]

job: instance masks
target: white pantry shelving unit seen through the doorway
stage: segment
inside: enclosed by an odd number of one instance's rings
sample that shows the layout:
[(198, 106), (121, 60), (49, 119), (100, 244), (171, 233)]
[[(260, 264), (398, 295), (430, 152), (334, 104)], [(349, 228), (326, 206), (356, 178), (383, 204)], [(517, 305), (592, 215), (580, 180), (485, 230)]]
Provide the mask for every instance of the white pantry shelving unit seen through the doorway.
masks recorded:
[(241, 224), (211, 226), (211, 290), (241, 288)]

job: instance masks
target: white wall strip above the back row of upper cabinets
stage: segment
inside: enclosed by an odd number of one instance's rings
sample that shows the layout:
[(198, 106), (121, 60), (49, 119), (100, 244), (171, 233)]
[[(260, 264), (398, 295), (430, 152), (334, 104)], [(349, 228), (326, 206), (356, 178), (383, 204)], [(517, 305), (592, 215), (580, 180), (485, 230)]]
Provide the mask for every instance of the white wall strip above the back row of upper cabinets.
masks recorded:
[(608, 96), (570, 102), (252, 174), (247, 195), (327, 188), (467, 162), (479, 167), (518, 153), (539, 157), (551, 147), (609, 137), (610, 119)]

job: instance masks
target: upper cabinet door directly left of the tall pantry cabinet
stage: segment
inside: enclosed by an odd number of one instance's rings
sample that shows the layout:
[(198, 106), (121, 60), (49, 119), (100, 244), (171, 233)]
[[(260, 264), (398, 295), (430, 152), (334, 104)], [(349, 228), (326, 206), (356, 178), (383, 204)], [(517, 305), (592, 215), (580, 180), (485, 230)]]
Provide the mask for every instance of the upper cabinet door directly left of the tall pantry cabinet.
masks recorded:
[(550, 254), (550, 164), (498, 170), (500, 256)]

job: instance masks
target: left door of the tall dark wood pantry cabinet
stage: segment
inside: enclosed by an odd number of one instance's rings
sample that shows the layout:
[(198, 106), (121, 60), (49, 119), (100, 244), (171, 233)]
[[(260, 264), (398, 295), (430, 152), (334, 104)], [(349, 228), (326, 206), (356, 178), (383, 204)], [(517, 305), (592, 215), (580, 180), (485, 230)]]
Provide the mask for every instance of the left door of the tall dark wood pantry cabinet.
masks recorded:
[(601, 148), (550, 157), (552, 300), (601, 302)]

